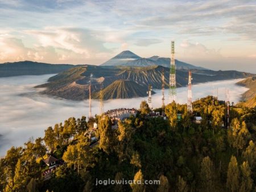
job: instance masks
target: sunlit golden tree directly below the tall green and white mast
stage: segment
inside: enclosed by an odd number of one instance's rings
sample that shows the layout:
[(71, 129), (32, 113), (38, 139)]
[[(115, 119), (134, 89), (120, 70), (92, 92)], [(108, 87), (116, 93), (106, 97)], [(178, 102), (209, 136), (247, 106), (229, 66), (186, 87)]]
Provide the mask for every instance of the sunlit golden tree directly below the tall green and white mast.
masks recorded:
[(170, 103), (166, 106), (166, 116), (169, 119), (172, 131), (176, 131), (176, 128), (177, 128), (177, 106), (176, 106), (175, 101), (173, 101), (172, 103)]

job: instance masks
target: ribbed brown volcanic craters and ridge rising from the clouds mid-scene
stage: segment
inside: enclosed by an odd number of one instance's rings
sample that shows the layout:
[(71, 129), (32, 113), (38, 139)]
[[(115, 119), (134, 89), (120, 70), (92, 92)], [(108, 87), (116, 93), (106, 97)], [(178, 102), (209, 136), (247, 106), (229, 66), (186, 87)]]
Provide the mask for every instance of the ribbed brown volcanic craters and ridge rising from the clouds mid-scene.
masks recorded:
[[(92, 98), (99, 98), (99, 91), (103, 83), (104, 99), (146, 97), (148, 85), (153, 89), (162, 87), (162, 71), (164, 84), (168, 87), (170, 68), (160, 65), (151, 66), (95, 66), (85, 65), (71, 68), (65, 72), (49, 78), (47, 84), (37, 87), (46, 87), (43, 94), (53, 95), (71, 100), (89, 98), (89, 82), (92, 84)], [(90, 74), (93, 74), (90, 77)], [(193, 70), (193, 84), (229, 80), (232, 78), (246, 78), (253, 74), (236, 71)], [(187, 86), (188, 70), (176, 70), (177, 87)]]

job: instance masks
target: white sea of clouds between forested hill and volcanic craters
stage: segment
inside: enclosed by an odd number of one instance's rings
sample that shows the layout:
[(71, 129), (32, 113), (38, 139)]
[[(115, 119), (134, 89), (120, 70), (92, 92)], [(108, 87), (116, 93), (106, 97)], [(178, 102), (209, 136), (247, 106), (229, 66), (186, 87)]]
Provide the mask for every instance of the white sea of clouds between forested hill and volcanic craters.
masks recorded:
[[(18, 76), (0, 78), (0, 156), (4, 156), (11, 146), (23, 145), (28, 139), (43, 137), (44, 130), (55, 123), (63, 122), (71, 116), (88, 116), (88, 101), (67, 101), (39, 94), (41, 89), (34, 86), (43, 84), (51, 75)], [(225, 99), (225, 89), (229, 89), (230, 102), (238, 102), (241, 94), (247, 90), (237, 86), (240, 80), (214, 81), (192, 86), (193, 101), (207, 95), (217, 95)], [(153, 87), (154, 89), (154, 87)], [(213, 91), (214, 90), (214, 91)], [(162, 105), (161, 90), (154, 90), (152, 107)], [(166, 103), (168, 90), (165, 91)], [(141, 101), (147, 98), (113, 99), (104, 102), (104, 110), (120, 107), (139, 108)], [(177, 102), (187, 102), (187, 87), (177, 89)], [(92, 101), (92, 114), (100, 111), (98, 101)]]

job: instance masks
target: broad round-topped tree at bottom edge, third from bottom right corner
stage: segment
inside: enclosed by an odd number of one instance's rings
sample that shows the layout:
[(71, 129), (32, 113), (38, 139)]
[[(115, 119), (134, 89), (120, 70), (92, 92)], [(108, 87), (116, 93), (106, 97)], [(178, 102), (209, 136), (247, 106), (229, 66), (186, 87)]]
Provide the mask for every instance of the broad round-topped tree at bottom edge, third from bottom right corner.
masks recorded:
[(204, 157), (201, 162), (200, 178), (202, 191), (215, 191), (216, 173), (214, 173), (214, 165), (209, 156)]

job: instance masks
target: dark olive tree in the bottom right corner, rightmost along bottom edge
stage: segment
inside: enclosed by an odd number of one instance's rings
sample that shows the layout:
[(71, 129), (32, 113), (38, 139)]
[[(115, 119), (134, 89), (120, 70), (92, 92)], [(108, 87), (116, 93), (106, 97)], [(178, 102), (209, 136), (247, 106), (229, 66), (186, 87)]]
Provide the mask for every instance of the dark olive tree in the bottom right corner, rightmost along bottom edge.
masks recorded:
[(247, 161), (241, 165), (241, 184), (239, 192), (247, 192), (253, 189), (253, 180), (251, 179), (251, 169)]

